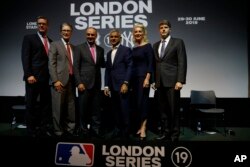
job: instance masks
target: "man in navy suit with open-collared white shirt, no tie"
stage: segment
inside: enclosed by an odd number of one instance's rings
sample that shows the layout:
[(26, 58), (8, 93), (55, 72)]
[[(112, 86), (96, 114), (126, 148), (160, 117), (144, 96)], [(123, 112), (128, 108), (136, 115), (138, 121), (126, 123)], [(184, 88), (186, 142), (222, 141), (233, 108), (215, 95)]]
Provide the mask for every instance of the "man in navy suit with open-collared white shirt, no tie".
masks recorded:
[(109, 34), (112, 50), (107, 53), (104, 94), (111, 97), (112, 114), (114, 115), (114, 136), (129, 136), (129, 92), (128, 84), (132, 72), (132, 50), (123, 46), (119, 30)]

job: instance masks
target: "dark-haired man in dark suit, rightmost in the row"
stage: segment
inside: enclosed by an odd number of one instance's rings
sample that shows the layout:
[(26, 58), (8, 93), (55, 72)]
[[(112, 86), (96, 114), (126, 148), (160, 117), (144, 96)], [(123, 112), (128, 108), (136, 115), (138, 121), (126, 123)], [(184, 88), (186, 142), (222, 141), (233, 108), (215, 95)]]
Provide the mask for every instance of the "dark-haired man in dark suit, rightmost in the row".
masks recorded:
[(170, 22), (161, 21), (161, 40), (153, 45), (156, 98), (161, 116), (161, 135), (157, 139), (177, 141), (180, 135), (180, 91), (186, 83), (187, 55), (183, 40), (173, 38), (170, 31)]

